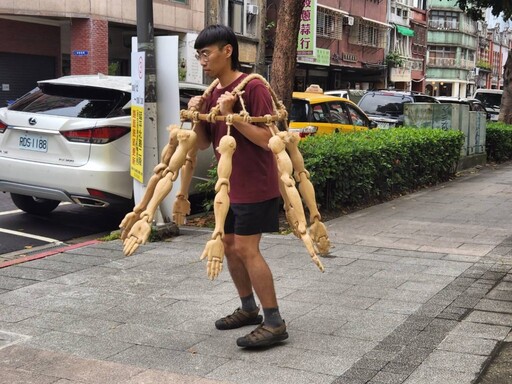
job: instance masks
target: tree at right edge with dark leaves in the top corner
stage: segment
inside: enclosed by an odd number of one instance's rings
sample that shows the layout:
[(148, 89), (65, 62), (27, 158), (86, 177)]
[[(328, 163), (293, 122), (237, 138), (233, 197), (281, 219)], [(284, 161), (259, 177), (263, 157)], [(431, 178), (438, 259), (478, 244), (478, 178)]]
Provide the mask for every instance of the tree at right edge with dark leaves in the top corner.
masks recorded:
[[(484, 11), (491, 8), (494, 16), (501, 15), (504, 21), (512, 20), (512, 2), (506, 0), (458, 0), (459, 8), (473, 20), (482, 20)], [(512, 124), (512, 50), (503, 66), (503, 96), (501, 98), (499, 121)]]

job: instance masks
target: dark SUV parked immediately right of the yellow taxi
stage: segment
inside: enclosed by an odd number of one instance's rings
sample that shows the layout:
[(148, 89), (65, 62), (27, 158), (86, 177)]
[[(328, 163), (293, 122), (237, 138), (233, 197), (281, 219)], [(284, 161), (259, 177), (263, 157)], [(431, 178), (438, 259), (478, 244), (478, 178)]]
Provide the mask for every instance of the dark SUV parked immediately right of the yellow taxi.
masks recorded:
[(368, 91), (357, 104), (377, 127), (386, 129), (404, 124), (405, 103), (439, 103), (434, 97), (416, 92)]

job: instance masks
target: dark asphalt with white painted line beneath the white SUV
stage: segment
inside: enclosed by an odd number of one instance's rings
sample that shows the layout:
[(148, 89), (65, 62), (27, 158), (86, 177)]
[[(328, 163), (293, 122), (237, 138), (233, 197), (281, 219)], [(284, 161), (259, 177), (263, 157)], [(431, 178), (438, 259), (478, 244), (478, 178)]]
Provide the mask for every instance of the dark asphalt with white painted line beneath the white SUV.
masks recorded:
[(62, 204), (48, 216), (24, 213), (0, 192), (0, 255), (48, 244), (75, 244), (118, 228), (125, 212)]

